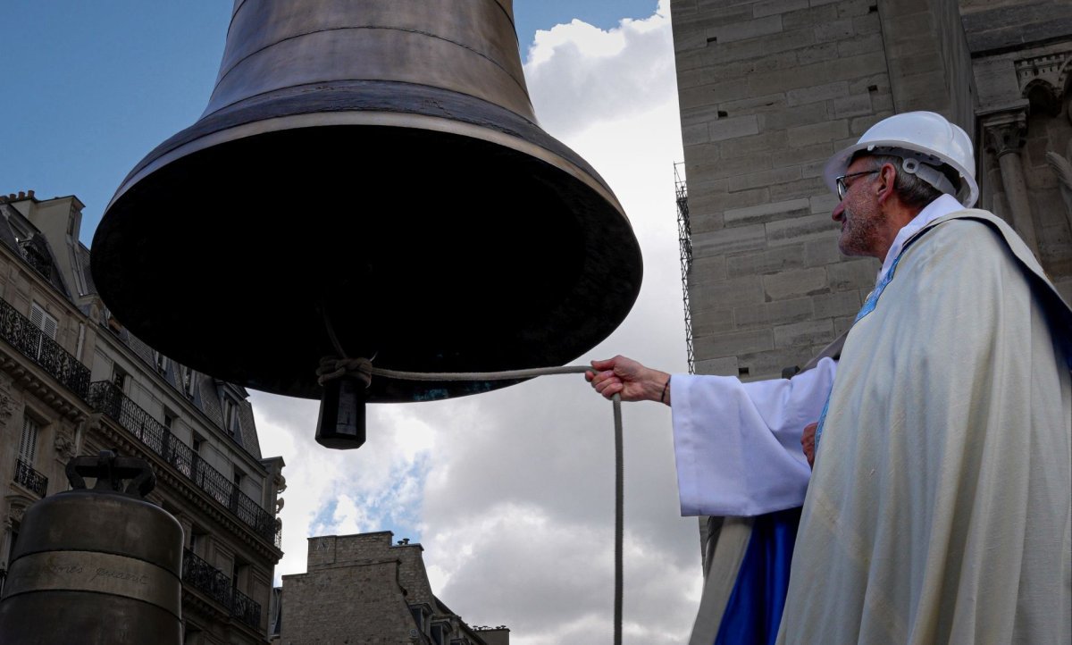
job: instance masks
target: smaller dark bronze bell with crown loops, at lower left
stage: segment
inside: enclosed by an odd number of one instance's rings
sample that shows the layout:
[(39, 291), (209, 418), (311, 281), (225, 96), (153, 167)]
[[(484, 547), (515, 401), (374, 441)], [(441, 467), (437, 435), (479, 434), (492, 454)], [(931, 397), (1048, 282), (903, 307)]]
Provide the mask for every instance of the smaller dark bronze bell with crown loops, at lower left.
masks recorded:
[(74, 458), (66, 471), (73, 490), (23, 518), (0, 599), (0, 643), (178, 645), (182, 527), (144, 499), (155, 482), (149, 464), (105, 451)]

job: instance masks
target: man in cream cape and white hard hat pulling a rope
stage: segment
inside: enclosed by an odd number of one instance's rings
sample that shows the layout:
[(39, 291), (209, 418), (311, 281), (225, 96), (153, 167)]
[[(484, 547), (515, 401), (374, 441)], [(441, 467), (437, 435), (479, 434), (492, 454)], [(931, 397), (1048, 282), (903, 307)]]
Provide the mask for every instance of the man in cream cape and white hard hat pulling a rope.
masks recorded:
[[(970, 210), (973, 167), (932, 112), (828, 163), (840, 250), (883, 262), (836, 362), (751, 384), (593, 362), (602, 395), (672, 405), (683, 514), (803, 506), (778, 643), (1072, 642), (1072, 310)], [(740, 561), (747, 530), (723, 532)], [(730, 611), (709, 590), (701, 612)], [(734, 618), (701, 616), (693, 643), (733, 642)]]

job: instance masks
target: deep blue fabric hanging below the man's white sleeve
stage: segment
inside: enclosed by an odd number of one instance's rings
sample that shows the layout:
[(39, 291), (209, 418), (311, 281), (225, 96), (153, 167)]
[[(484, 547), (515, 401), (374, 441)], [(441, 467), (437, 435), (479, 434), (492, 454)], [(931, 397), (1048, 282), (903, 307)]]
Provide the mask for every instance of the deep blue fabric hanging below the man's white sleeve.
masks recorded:
[(800, 508), (756, 518), (714, 645), (774, 644), (800, 520)]

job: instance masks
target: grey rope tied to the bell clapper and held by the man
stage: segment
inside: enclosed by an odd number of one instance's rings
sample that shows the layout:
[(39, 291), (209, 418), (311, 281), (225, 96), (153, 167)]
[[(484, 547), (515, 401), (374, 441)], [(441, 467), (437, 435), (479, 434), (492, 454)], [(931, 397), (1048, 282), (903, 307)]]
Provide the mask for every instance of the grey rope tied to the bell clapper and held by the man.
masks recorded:
[[(328, 333), (339, 354), (344, 354), (328, 324)], [(589, 365), (563, 365), (561, 368), (534, 368), (530, 370), (507, 370), (504, 372), (399, 372), (383, 370), (372, 365), (366, 358), (326, 357), (321, 359), (316, 379), (326, 382), (349, 376), (363, 382), (372, 382), (373, 376), (401, 380), (513, 380), (553, 374), (583, 374), (593, 372)], [(622, 448), (622, 398), (614, 394), (614, 645), (622, 645), (622, 542), (625, 532), (625, 459)]]

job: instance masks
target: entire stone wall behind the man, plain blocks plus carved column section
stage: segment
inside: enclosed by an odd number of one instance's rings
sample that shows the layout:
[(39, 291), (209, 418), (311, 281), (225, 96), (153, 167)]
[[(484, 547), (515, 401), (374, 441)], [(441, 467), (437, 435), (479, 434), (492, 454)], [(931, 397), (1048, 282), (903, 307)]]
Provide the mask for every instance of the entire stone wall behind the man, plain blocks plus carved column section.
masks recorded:
[(848, 329), (879, 265), (838, 252), (822, 166), (894, 112), (937, 111), (973, 137), (980, 207), (1038, 239), (1072, 292), (1072, 5), (964, 4), (671, 1), (698, 373), (777, 377)]

